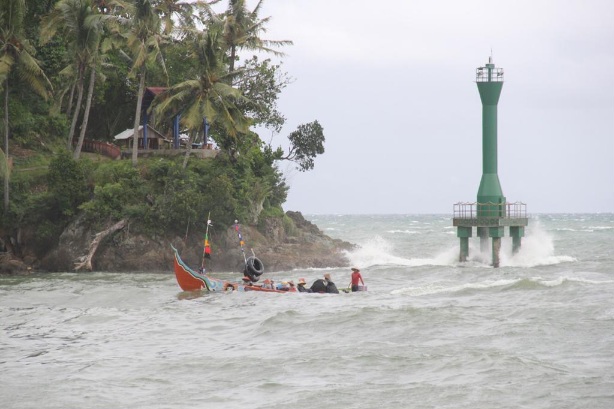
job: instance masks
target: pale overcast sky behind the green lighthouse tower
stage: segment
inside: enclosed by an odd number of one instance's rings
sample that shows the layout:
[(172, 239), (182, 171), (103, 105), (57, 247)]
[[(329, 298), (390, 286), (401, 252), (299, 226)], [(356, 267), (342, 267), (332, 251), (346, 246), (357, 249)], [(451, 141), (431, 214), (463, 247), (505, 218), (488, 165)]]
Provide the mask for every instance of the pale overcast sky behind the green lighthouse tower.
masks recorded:
[[(256, 1), (249, 1), (250, 9)], [(614, 212), (614, 1), (265, 0), (292, 40), (274, 146), (318, 120), (315, 168), (280, 168), (284, 210), (452, 213), (482, 175), (475, 70), (505, 73), (498, 174), (529, 214)]]

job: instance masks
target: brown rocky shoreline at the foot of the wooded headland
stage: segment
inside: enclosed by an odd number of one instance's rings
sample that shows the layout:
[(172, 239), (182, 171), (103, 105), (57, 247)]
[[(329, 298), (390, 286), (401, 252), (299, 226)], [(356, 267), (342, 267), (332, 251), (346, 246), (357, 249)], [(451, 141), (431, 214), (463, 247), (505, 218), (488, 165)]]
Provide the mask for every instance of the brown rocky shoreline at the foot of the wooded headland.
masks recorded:
[[(260, 231), (251, 226), (241, 225), (245, 241), (246, 256), (253, 253), (264, 264), (265, 271), (273, 272), (310, 267), (343, 267), (348, 265), (345, 251), (354, 246), (332, 239), (323, 234), (300, 212), (287, 212), (292, 219), (291, 226), (284, 227), (281, 218), (266, 219)], [(290, 231), (287, 231), (290, 230)], [(97, 239), (98, 231), (92, 231), (81, 219), (76, 219), (62, 233), (59, 244), (40, 259), (31, 259), (30, 265), (11, 264), (11, 272), (73, 271), (83, 262)], [(242, 271), (243, 253), (233, 226), (214, 226), (209, 232), (211, 259), (206, 260), (207, 270)], [(109, 233), (99, 239), (99, 245), (91, 257), (95, 271), (172, 271), (175, 246), (182, 259), (193, 268), (200, 267), (203, 255), (204, 232), (195, 232), (183, 237), (147, 237), (130, 231), (130, 225)], [(0, 272), (2, 271), (0, 264)], [(8, 271), (6, 269), (5, 271)], [(29, 270), (27, 270), (29, 271)]]

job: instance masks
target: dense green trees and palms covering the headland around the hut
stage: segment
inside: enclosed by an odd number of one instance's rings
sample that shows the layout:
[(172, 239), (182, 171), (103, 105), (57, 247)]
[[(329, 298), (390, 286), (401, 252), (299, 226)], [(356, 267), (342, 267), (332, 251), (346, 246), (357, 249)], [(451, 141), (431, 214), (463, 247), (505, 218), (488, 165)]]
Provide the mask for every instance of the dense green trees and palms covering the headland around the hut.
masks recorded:
[[(129, 219), (151, 234), (202, 230), (209, 212), (222, 225), (283, 217), (288, 186), (277, 162), (313, 168), (324, 135), (317, 121), (301, 125), (284, 155), (252, 131), (282, 129), (277, 99), (290, 82), (281, 64), (249, 54), (282, 56), (275, 48), (291, 44), (260, 37), (268, 21), (261, 3), (249, 10), (228, 0), (216, 13), (207, 2), (178, 0), (0, 0), (3, 22), (14, 5), (21, 13), (13, 31), (0, 30), (1, 241), (35, 228), (43, 251), (78, 216), (100, 226)], [(147, 111), (139, 110), (144, 87), (166, 88)], [(112, 142), (144, 114), (165, 135), (181, 114), (193, 140), (206, 118), (218, 155), (80, 156), (84, 138)]]

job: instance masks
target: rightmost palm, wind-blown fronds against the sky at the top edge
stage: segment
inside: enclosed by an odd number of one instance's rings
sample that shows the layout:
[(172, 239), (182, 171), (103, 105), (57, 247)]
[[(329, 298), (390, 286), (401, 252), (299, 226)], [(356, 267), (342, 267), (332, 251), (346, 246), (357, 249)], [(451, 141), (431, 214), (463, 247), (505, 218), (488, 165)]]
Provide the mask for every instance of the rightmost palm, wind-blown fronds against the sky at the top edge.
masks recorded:
[(271, 47), (292, 45), (288, 40), (265, 40), (260, 38), (261, 33), (266, 33), (265, 25), (270, 17), (260, 19), (258, 13), (264, 0), (259, 0), (252, 11), (247, 9), (245, 0), (230, 0), (223, 21), (223, 39), (226, 48), (230, 52), (228, 68), (230, 72), (235, 69), (235, 61), (239, 49), (252, 51), (270, 52), (277, 56), (283, 56), (282, 52)]

